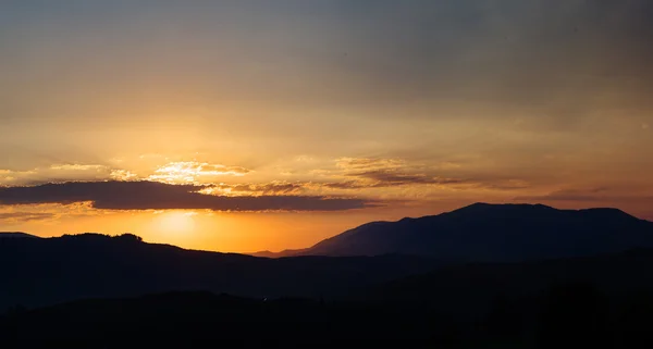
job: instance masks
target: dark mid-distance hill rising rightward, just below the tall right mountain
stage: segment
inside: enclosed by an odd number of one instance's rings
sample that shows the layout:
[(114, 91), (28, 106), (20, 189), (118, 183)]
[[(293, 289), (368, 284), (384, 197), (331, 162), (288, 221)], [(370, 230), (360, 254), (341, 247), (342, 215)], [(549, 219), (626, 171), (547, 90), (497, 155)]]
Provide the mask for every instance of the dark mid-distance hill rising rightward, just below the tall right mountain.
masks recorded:
[(555, 285), (589, 284), (613, 296), (653, 290), (652, 269), (653, 249), (519, 263), (470, 263), (367, 287), (350, 299), (419, 300), (424, 307), (475, 316), (488, 311), (498, 298), (533, 298)]

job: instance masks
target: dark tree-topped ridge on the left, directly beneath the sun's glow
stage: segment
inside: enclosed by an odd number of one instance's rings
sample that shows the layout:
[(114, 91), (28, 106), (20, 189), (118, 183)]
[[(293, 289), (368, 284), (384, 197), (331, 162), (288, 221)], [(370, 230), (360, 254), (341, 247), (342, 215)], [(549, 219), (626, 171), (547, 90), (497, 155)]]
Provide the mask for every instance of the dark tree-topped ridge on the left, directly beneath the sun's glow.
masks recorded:
[(171, 290), (333, 298), (352, 287), (428, 272), (438, 264), (402, 255), (266, 259), (146, 244), (134, 235), (0, 236), (0, 313), (19, 304)]

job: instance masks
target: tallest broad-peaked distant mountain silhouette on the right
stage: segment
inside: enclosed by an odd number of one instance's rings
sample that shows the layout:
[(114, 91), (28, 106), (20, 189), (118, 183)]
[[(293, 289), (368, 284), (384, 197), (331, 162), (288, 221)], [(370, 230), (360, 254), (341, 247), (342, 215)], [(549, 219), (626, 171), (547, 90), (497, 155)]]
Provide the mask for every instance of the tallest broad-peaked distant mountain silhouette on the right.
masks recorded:
[(525, 261), (653, 247), (653, 223), (617, 209), (475, 203), (453, 212), (372, 222), (308, 249), (267, 257), (436, 257), (458, 262)]

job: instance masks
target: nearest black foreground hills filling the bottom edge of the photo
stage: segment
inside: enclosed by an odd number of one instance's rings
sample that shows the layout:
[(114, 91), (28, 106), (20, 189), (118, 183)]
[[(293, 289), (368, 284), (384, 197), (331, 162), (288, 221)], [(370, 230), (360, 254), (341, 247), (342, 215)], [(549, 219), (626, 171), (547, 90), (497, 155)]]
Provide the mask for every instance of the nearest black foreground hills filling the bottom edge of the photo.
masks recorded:
[(653, 250), (469, 264), (337, 301), (171, 292), (0, 317), (3, 348), (651, 348)]

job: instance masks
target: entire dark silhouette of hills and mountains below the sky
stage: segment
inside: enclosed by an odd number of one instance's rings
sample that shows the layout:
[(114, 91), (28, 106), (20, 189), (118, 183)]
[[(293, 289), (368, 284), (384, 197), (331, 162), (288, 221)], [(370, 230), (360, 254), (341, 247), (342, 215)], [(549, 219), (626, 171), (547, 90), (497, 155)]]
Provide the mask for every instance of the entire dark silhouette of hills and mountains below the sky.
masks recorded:
[(0, 234), (0, 347), (651, 348), (652, 224), (477, 203), (285, 258)]

